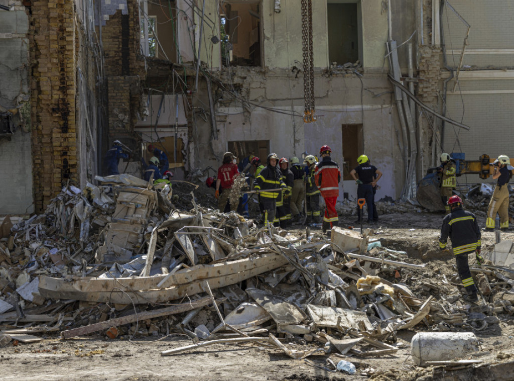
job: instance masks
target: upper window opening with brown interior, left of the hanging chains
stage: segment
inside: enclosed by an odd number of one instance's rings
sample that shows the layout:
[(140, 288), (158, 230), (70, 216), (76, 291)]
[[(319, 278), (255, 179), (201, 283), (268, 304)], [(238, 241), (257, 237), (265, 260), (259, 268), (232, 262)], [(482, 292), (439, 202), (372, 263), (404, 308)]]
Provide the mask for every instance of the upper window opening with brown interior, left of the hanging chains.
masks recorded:
[(257, 0), (225, 2), (220, 22), (224, 66), (261, 66), (261, 10)]

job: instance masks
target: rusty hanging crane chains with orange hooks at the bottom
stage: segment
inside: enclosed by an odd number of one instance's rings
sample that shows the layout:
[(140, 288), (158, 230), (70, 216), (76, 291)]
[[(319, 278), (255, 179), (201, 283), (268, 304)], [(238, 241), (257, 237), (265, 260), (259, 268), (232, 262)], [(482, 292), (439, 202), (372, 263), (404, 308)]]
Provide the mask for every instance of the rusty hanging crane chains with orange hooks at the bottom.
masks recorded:
[(314, 99), (313, 3), (302, 0), (303, 99), (305, 123), (316, 122)]

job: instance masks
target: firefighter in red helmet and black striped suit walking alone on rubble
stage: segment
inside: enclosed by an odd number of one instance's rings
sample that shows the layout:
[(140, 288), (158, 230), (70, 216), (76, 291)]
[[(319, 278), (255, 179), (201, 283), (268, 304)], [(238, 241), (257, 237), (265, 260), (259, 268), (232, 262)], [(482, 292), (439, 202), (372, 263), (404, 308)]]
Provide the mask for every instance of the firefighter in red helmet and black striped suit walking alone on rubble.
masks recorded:
[(462, 199), (452, 196), (448, 200), (451, 213), (443, 219), (441, 235), (439, 237), (439, 249), (445, 250), (448, 237), (450, 237), (453, 254), (457, 262), (457, 272), (462, 285), (466, 290), (464, 300), (476, 302), (476, 287), (469, 271), (468, 254), (475, 253), (476, 262), (481, 265), (484, 259), (480, 255), (482, 240), (479, 225), (473, 213), (463, 209)]

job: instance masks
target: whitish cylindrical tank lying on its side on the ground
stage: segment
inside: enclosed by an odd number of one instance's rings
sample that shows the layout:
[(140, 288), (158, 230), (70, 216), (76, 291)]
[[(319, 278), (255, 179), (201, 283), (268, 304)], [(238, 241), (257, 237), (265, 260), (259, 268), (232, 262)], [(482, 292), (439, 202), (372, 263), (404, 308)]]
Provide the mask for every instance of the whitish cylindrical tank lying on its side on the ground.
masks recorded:
[(411, 342), (412, 359), (417, 366), (427, 361), (450, 361), (479, 350), (479, 341), (472, 332), (420, 332)]

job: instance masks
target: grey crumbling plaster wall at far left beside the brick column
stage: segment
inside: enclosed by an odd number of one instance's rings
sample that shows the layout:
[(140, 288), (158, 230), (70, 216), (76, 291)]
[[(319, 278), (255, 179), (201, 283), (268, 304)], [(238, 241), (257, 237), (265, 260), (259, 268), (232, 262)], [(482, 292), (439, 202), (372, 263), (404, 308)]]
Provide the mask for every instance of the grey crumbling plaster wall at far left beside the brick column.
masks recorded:
[(14, 134), (0, 138), (0, 214), (33, 212), (30, 143), (29, 16), (19, 1), (0, 10), (0, 111), (13, 115)]

